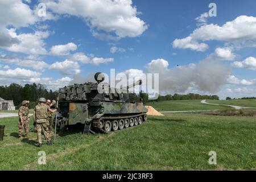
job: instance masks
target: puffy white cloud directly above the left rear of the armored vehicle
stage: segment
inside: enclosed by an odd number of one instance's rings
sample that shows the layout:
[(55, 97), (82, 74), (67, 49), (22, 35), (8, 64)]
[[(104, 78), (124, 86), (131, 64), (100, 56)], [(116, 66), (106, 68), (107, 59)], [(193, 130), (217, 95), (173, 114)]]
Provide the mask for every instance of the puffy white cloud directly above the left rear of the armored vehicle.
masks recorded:
[(80, 65), (71, 60), (53, 63), (49, 66), (49, 69), (55, 69), (63, 75), (76, 75), (80, 73)]

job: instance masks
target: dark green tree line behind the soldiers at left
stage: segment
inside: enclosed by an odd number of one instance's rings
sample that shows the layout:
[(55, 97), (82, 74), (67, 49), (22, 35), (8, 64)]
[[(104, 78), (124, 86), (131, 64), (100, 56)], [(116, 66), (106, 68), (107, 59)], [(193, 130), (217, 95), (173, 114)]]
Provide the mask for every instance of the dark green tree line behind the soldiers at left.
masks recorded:
[(9, 86), (0, 86), (0, 97), (4, 100), (13, 100), (16, 109), (23, 100), (30, 101), (28, 107), (34, 108), (38, 104), (39, 97), (45, 97), (49, 100), (56, 100), (58, 93), (47, 90), (42, 84), (11, 84)]

